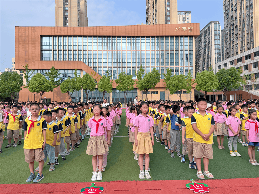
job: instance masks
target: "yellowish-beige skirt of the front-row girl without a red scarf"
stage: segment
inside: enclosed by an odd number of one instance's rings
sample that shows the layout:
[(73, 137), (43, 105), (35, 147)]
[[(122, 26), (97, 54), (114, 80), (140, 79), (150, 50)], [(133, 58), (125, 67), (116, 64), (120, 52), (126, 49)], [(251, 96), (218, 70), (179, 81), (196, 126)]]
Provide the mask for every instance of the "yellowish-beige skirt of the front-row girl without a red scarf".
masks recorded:
[(133, 151), (135, 151), (138, 154), (149, 154), (149, 153), (153, 153), (153, 147), (152, 147), (152, 143), (151, 143), (151, 136), (150, 136), (150, 132), (138, 132), (138, 146), (133, 145)]

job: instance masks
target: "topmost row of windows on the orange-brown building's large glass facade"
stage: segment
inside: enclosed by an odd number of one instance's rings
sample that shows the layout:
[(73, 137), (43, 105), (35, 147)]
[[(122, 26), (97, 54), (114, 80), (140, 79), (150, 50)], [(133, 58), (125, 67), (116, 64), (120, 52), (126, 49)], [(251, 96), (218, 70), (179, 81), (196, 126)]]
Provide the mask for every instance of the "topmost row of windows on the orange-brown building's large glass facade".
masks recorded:
[(190, 50), (193, 37), (41, 37), (41, 50)]

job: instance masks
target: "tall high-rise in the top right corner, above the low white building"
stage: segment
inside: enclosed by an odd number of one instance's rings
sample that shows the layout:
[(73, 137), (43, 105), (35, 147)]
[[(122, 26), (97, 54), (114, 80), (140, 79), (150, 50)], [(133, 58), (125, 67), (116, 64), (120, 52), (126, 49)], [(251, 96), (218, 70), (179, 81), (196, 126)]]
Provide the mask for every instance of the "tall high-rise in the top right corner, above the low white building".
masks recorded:
[(224, 60), (259, 46), (259, 1), (224, 0)]

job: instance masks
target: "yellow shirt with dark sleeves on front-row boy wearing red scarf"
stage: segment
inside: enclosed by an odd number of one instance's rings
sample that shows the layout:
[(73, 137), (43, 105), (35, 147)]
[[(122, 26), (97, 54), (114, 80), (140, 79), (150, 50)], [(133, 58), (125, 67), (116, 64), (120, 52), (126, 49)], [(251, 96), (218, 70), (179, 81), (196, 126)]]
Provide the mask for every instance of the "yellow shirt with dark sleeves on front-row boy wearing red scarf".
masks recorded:
[(30, 132), (28, 134), (29, 127), (31, 125), (31, 116), (27, 117), (23, 124), (24, 131), (27, 131), (27, 133), (24, 133), (24, 149), (39, 149), (42, 148), (44, 139), (43, 139), (43, 130), (47, 129), (47, 123), (44, 118), (39, 116), (34, 122), (34, 127), (30, 128)]

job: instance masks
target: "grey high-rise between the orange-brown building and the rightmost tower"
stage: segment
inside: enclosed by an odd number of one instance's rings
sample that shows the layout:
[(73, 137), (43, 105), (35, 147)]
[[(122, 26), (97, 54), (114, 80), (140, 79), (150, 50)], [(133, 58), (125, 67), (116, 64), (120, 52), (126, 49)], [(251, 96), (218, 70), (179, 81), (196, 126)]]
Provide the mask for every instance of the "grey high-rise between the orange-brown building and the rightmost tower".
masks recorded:
[(219, 22), (210, 22), (195, 40), (195, 74), (215, 68), (221, 61), (221, 27)]

